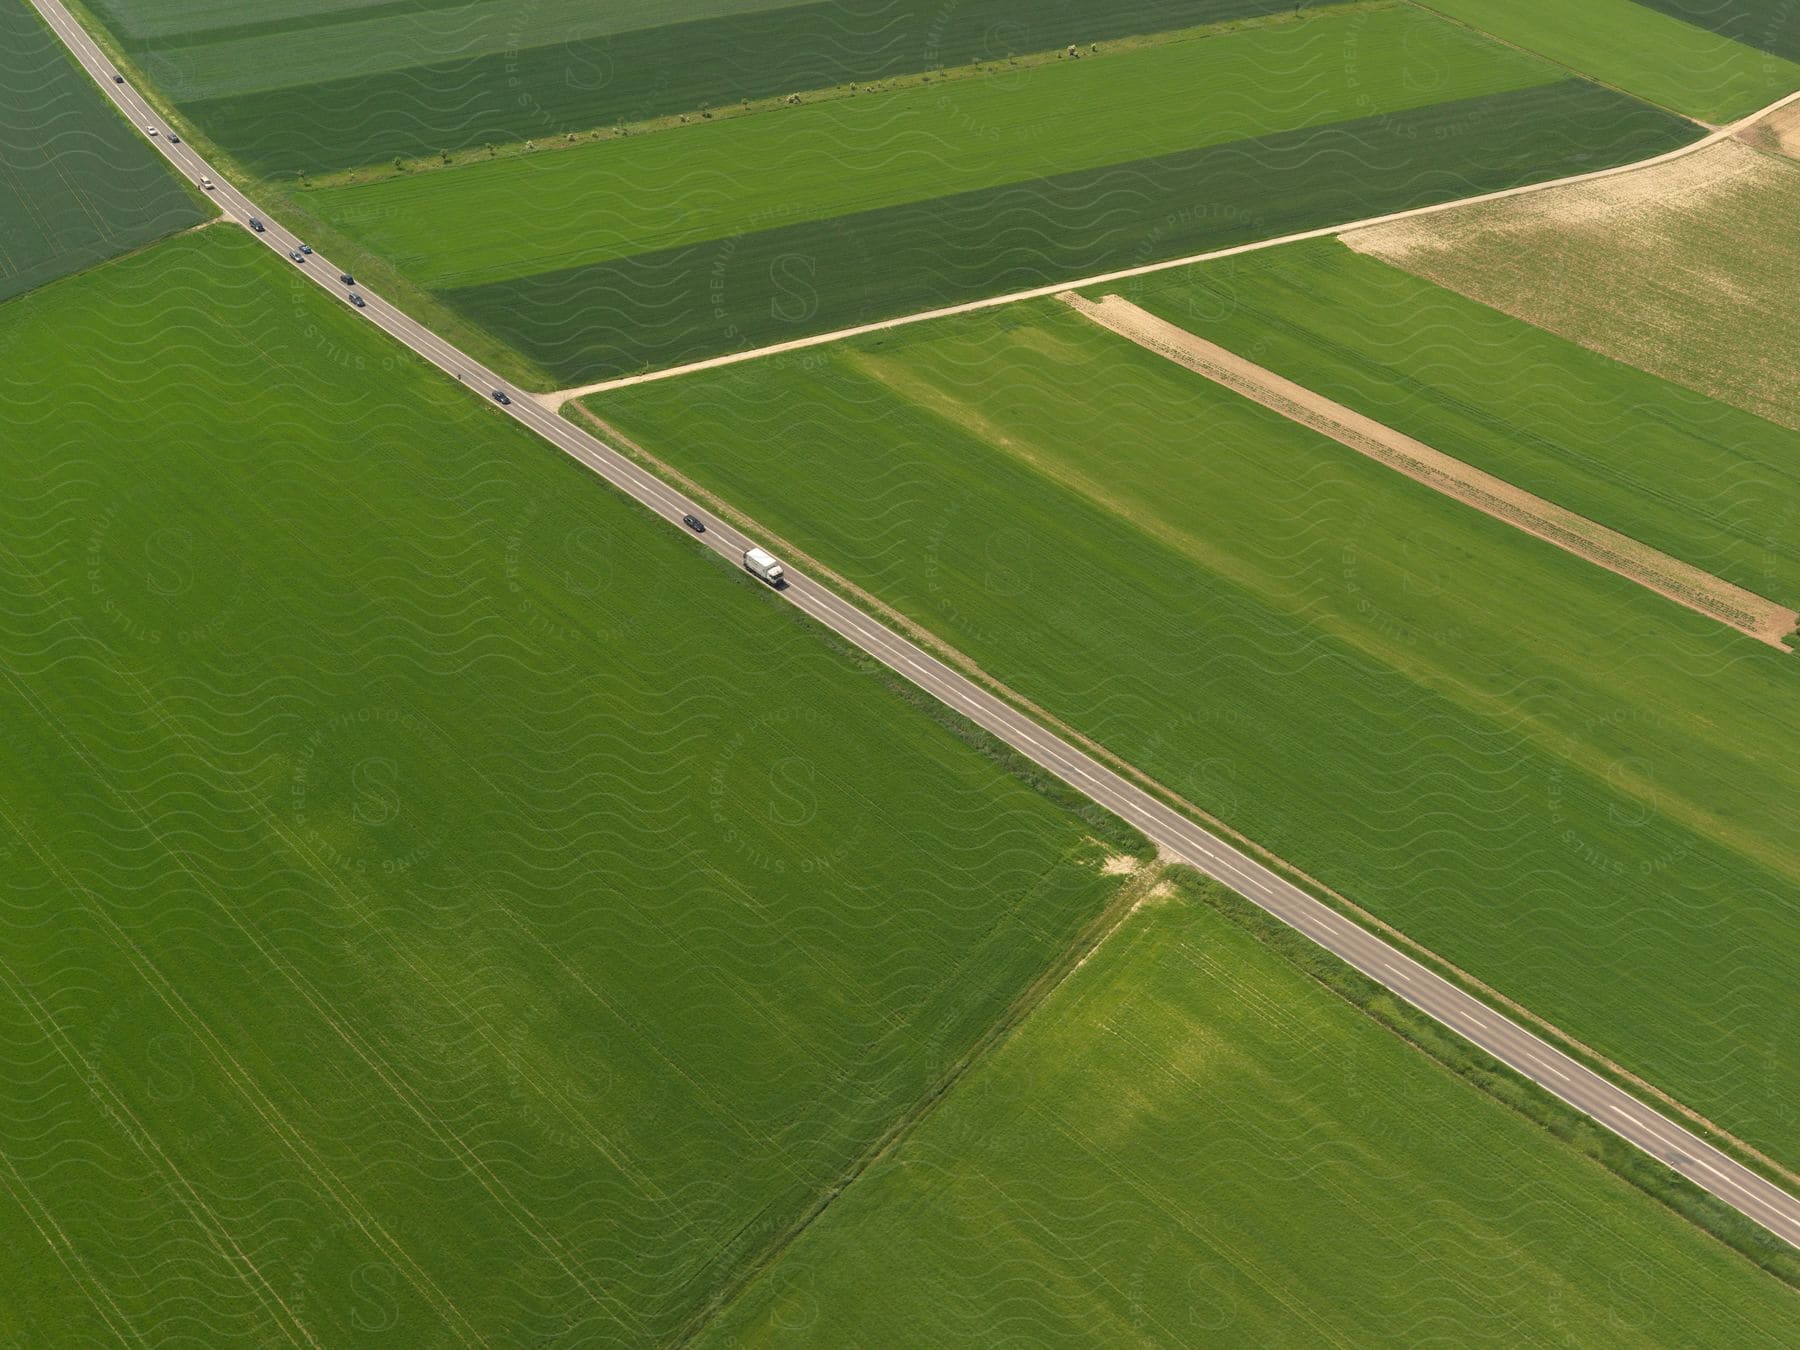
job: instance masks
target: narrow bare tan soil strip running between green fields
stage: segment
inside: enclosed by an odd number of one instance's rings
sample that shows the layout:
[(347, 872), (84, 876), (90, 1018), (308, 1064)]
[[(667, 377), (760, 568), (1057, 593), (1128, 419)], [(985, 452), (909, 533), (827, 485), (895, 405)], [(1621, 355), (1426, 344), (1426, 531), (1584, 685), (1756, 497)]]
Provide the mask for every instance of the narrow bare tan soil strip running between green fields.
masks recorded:
[(1274, 371), (1265, 371), (1255, 362), (1157, 319), (1118, 295), (1107, 295), (1096, 302), (1064, 292), (1058, 299), (1102, 328), (1130, 338), (1139, 347), (1204, 374), (1283, 418), (1330, 436), (1339, 445), (1399, 470), (1445, 497), (1454, 497), (1496, 520), (1505, 520), (1508, 526), (1598, 563), (1609, 572), (1618, 572), (1757, 641), (1784, 652), (1791, 650), (1782, 639), (1800, 626), (1800, 612), (1782, 608), (1775, 601), (1732, 585), (1712, 572), (1703, 572), (1679, 558), (1670, 558), (1647, 544), (1516, 488), (1505, 479), (1483, 473), (1442, 450), (1433, 450), (1424, 441), (1415, 441), (1411, 436), (1384, 427), (1373, 418), (1364, 418), (1343, 403), (1296, 385), (1292, 380), (1283, 380)]

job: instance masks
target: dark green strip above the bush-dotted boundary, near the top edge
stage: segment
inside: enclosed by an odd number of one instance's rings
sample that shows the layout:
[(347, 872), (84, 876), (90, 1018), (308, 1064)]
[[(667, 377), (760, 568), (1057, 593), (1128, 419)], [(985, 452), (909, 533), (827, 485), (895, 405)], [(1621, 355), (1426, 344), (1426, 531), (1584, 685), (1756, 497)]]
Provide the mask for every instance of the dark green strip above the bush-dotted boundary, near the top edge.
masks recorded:
[(200, 99), (184, 112), (259, 173), (324, 173), (1292, 9), (1283, 0), (968, 0), (896, 14), (821, 4)]

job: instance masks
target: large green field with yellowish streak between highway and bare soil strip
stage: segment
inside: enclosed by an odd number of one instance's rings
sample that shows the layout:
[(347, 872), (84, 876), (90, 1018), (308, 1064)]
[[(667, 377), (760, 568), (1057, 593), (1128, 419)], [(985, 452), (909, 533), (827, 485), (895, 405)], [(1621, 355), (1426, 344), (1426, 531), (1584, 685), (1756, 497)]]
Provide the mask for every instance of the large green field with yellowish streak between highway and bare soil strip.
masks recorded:
[[(1201, 808), (1800, 1161), (1796, 657), (1055, 301), (589, 405)], [(1651, 416), (1705, 445), (1728, 414)]]

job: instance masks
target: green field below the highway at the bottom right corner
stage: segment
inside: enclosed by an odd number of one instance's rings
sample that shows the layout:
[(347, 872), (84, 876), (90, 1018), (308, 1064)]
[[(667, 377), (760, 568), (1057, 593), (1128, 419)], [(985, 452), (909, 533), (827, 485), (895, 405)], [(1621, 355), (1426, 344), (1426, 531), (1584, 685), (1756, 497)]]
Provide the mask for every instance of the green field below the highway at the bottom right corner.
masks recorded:
[(1786, 1345), (1800, 1296), (1199, 900), (1139, 909), (713, 1345)]

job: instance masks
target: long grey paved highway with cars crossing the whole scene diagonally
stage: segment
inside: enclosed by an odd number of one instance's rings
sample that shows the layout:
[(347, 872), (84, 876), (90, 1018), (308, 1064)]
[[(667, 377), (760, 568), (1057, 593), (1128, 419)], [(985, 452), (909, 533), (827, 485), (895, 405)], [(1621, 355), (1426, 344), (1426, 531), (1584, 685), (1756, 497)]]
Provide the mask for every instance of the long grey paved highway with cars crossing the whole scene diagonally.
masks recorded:
[[(180, 146), (167, 144), (167, 128), (162, 126), (155, 110), (130, 83), (113, 83), (112, 63), (58, 0), (32, 0), (32, 5), (36, 5), (38, 13), (56, 29), (63, 43), (68, 45), (88, 74), (94, 76), (95, 83), (124, 110), (124, 115), (133, 124), (139, 128), (155, 124), (162, 130), (162, 135), (155, 137), (151, 144), (158, 146), (189, 182), (198, 184), (202, 175), (211, 176), (218, 185), (212, 196), (225, 214), (239, 223), (248, 221), (250, 216), (259, 216), (266, 225), (266, 232), (257, 238), (281, 254), (284, 261), (292, 250), (299, 248), (301, 241), (293, 234), (284, 230), (274, 216), (257, 209), (243, 193), (230, 185), (193, 146), (185, 142)], [(344, 295), (347, 288), (338, 284), (338, 268), (324, 257), (315, 254), (304, 265), (292, 261), (286, 261), (286, 265), (299, 266), (301, 272), (335, 293), (340, 302), (346, 302)], [(509, 394), (515, 392), (497, 374), (452, 347), (428, 328), (414, 322), (392, 304), (387, 304), (380, 295), (358, 290), (369, 304), (360, 313), (369, 322), (387, 329), (387, 333), (432, 365), (459, 378), (482, 398), (488, 398), (495, 389), (504, 389)], [(643, 502), (668, 520), (671, 527), (686, 529), (680, 518), (691, 506), (675, 488), (646, 473), (587, 432), (563, 421), (529, 394), (518, 394), (513, 398), (511, 407), (502, 410), (563, 454), (587, 464), (594, 473), (607, 479), (607, 482)], [(743, 551), (754, 542), (722, 522), (707, 522), (706, 535), (695, 538), (702, 547), (711, 547), (725, 554), (734, 565), (742, 565)], [(970, 682), (923, 648), (909, 643), (817, 581), (788, 569), (787, 589), (774, 594), (855, 643), (871, 657), (979, 724), (1093, 801), (1130, 821), (1172, 859), (1188, 862), (1219, 878), (1539, 1087), (1562, 1098), (1582, 1114), (1591, 1116), (1688, 1181), (1712, 1192), (1733, 1210), (1786, 1238), (1795, 1247), (1800, 1247), (1800, 1201), (1780, 1186), (1766, 1181), (1670, 1118), (1638, 1102), (1544, 1040), (1539, 1040), (1517, 1022), (1418, 965), (1368, 929), (1343, 918), (1226, 841), (1170, 810), (1157, 797), (1112, 772), (1060, 736), (1051, 734), (1031, 718), (1015, 711), (995, 695)]]

